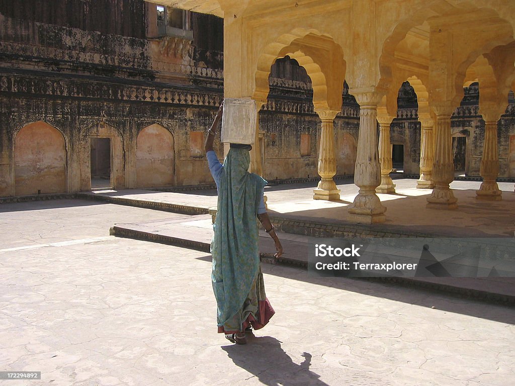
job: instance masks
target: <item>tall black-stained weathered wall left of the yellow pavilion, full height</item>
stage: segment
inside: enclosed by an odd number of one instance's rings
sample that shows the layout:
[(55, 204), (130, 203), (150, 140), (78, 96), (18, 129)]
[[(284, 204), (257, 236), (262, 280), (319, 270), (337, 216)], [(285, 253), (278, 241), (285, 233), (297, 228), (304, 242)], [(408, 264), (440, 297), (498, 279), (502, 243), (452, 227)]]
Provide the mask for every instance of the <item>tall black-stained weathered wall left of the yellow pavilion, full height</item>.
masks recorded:
[[(87, 14), (80, 17), (82, 8), (73, 1), (54, 3), (62, 6), (61, 13), (36, 14), (44, 8), (40, 4), (25, 14), (23, 7), (0, 3), (0, 196), (54, 192), (40, 180), (46, 176), (51, 182), (58, 174), (59, 183), (50, 184), (54, 189), (89, 189), (94, 137), (111, 139), (115, 188), (212, 182), (205, 157), (190, 146), (190, 133), (209, 127), (222, 100), (222, 53), (215, 50), (221, 38), (203, 35), (203, 42), (195, 27), (198, 50), (187, 39), (147, 40), (145, 14), (133, 9), (143, 7), (142, 1), (87, 2)], [(111, 12), (106, 14), (102, 7), (107, 6)], [(126, 11), (139, 18), (132, 31)], [(114, 29), (101, 28), (105, 17)], [(25, 146), (18, 133), (33, 122), (60, 133), (63, 149), (39, 142)], [(138, 135), (152, 125), (160, 125), (168, 133), (161, 131), (160, 138), (173, 144), (163, 160), (156, 159), (164, 151), (157, 138), (140, 137), (138, 153)], [(29, 153), (32, 160), (27, 160)], [(41, 160), (53, 161), (46, 165)], [(160, 175), (145, 180), (149, 171)]]

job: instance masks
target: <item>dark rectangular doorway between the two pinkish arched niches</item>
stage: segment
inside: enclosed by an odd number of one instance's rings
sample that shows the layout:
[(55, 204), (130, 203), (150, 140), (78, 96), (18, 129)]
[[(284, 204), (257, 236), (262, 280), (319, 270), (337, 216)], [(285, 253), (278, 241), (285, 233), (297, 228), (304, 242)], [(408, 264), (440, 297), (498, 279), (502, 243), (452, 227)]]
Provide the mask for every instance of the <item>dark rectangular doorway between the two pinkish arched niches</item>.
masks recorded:
[(91, 188), (111, 188), (111, 138), (91, 138)]

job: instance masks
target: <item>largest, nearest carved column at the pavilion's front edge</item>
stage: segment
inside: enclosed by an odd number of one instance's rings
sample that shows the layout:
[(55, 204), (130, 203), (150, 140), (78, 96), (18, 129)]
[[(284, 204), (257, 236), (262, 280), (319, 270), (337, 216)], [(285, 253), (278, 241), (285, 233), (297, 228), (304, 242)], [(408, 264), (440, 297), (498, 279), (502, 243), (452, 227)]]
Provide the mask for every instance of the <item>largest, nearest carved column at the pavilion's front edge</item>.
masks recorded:
[(375, 194), (375, 188), (381, 182), (376, 120), (381, 95), (377, 92), (353, 94), (359, 103), (359, 137), (354, 169), (354, 183), (359, 187), (359, 193), (349, 207), (349, 213), (357, 222), (383, 222), (386, 208)]

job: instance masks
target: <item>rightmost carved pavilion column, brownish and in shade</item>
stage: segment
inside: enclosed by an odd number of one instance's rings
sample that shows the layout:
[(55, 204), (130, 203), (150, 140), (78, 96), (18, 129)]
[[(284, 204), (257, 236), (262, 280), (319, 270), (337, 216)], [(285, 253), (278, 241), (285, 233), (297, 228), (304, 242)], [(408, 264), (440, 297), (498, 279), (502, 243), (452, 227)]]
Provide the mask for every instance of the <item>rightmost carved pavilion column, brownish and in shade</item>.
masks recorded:
[[(493, 109), (492, 109), (493, 110)], [(480, 111), (485, 120), (485, 141), (479, 174), (483, 182), (476, 190), (476, 199), (499, 201), (501, 190), (495, 181), (499, 176), (499, 154), (497, 153), (497, 120), (501, 114), (495, 111)]]

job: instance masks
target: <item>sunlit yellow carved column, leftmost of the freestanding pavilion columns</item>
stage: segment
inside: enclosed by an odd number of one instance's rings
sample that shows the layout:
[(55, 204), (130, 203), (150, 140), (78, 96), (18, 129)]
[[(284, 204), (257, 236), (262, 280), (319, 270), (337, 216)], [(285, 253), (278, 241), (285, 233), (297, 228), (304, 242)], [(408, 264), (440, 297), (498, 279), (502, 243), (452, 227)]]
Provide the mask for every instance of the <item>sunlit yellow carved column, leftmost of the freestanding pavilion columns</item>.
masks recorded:
[(322, 178), (316, 189), (313, 189), (314, 200), (334, 201), (340, 199), (340, 189), (336, 188), (333, 177), (336, 174), (336, 159), (334, 156), (334, 126), (333, 120), (337, 111), (316, 111), (322, 120), (320, 133), (320, 150), (318, 152), (318, 174)]

